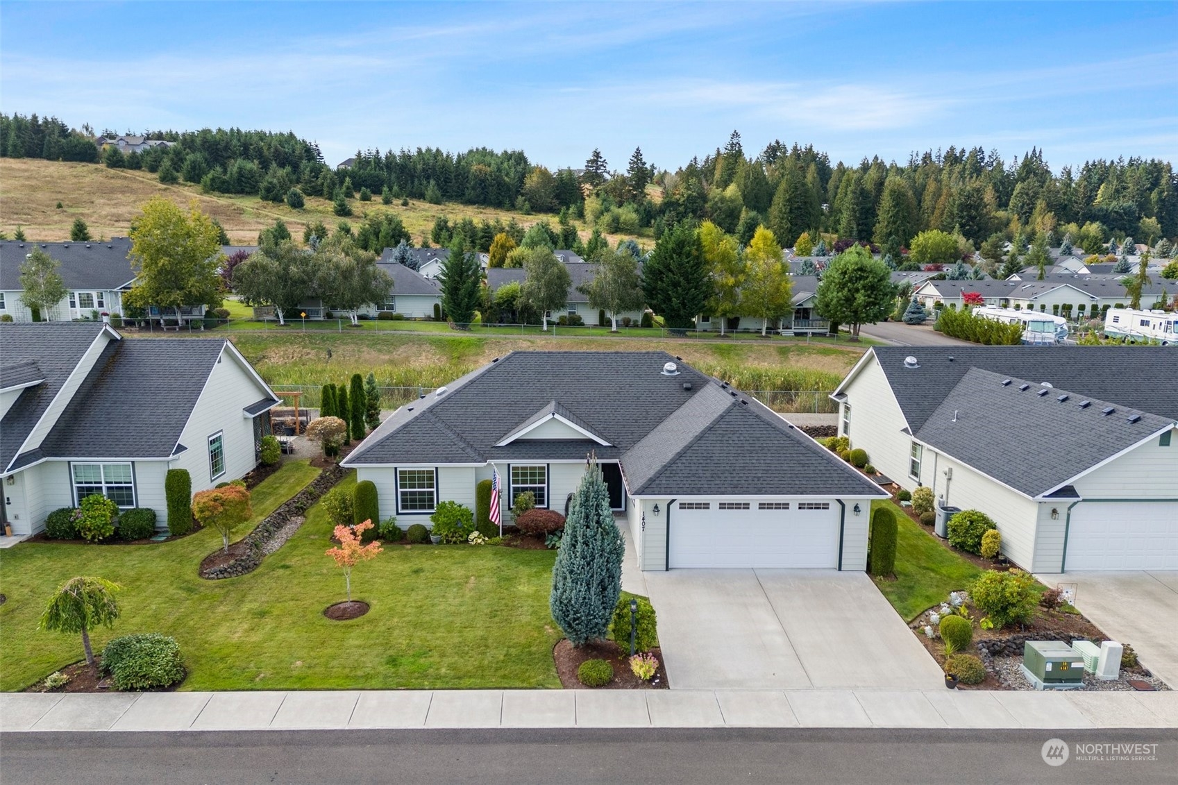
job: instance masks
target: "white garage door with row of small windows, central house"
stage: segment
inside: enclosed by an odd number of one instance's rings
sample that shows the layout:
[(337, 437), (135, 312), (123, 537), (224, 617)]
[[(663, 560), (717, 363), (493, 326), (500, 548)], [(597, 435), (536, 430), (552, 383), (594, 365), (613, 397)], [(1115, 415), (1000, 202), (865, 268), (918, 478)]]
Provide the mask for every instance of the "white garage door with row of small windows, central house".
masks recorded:
[(681, 501), (669, 545), (670, 567), (838, 567), (839, 504)]

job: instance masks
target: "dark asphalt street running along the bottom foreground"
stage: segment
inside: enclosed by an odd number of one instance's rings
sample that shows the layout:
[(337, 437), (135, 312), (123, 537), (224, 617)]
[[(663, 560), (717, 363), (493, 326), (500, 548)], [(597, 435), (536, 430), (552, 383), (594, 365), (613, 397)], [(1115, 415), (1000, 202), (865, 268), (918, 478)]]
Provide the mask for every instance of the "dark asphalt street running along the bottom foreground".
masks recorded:
[[(1048, 766), (1058, 737), (1071, 759)], [(1077, 743), (1157, 744), (1079, 760)], [(24, 783), (1178, 783), (1173, 730), (604, 730), (9, 733)]]

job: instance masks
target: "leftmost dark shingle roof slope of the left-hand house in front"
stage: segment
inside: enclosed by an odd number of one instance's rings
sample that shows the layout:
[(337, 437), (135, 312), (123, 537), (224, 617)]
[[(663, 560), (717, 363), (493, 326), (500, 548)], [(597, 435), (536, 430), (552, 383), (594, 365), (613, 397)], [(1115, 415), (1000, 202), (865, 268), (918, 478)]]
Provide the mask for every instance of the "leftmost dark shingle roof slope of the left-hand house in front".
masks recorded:
[(104, 328), (93, 322), (0, 323), (0, 356), (4, 357), (0, 384), (8, 384), (7, 369), (29, 362), (37, 363), (45, 378), (41, 384), (21, 390), (0, 421), (0, 470), (16, 457), (16, 450)]

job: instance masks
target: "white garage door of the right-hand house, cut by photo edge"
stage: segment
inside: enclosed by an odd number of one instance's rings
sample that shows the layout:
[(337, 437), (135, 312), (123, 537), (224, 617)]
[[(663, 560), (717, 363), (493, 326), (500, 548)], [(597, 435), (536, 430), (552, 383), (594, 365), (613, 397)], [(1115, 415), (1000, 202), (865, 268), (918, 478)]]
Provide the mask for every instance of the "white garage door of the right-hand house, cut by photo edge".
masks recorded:
[(1067, 570), (1178, 569), (1178, 503), (1080, 502), (1066, 559)]

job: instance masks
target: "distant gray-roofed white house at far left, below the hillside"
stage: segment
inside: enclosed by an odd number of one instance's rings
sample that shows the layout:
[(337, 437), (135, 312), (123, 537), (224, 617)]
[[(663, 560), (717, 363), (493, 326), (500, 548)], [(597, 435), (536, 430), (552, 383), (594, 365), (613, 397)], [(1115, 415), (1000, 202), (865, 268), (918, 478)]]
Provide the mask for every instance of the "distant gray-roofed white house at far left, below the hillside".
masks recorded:
[(25, 258), (40, 249), (61, 263), (58, 272), (68, 293), (41, 319), (54, 322), (88, 319), (95, 314), (123, 314), (123, 296), (134, 283), (127, 255), (131, 239), (112, 237), (105, 243), (19, 243), (0, 240), (0, 314), (14, 322), (32, 322), (32, 314), (20, 301), (20, 266)]

